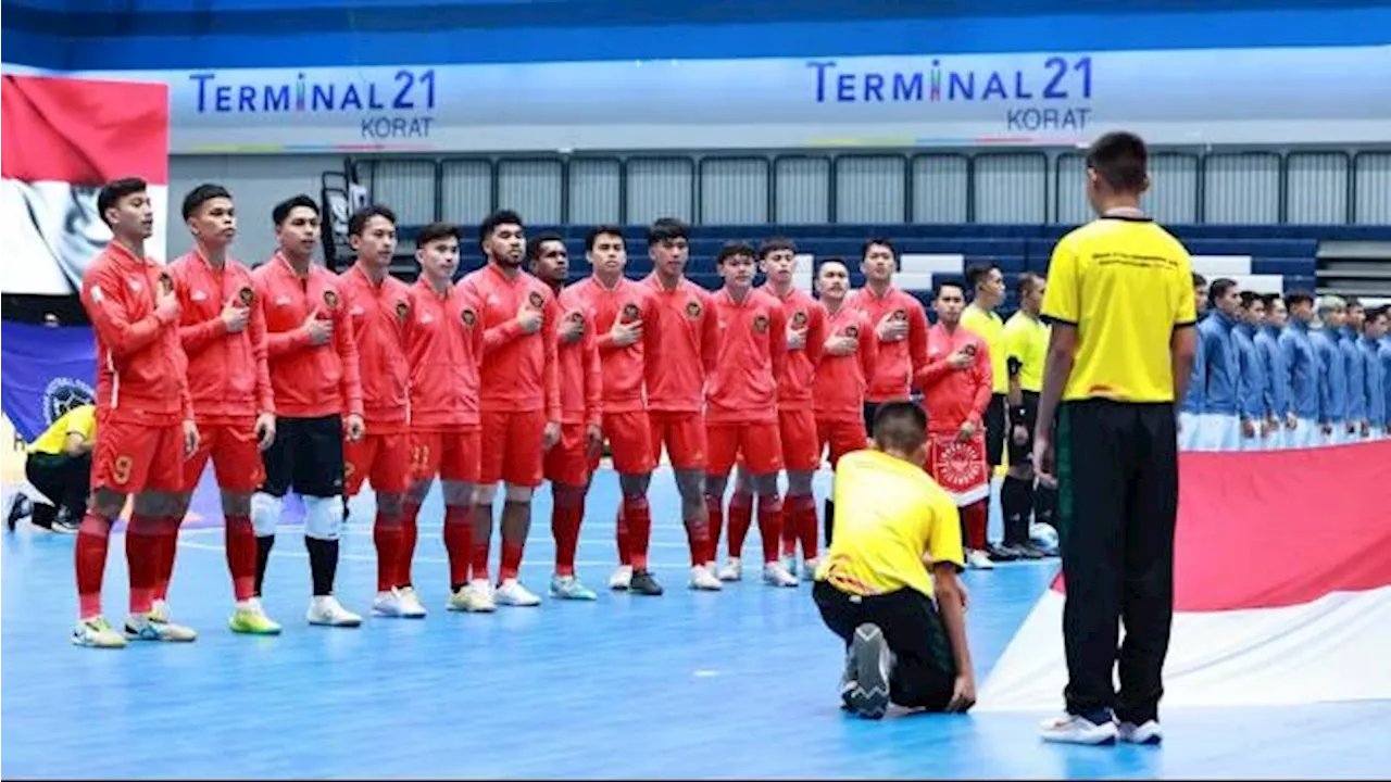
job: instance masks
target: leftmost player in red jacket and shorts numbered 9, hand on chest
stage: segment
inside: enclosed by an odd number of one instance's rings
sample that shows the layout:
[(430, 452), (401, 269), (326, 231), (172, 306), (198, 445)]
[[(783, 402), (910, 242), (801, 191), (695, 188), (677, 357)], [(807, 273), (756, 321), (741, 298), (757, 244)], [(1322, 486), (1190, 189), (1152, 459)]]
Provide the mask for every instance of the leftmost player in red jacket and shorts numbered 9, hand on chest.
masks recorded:
[[(160, 573), (160, 519), (178, 509), (184, 459), (198, 448), (198, 426), (174, 281), (145, 255), (145, 241), (154, 231), (146, 191), (145, 181), (136, 178), (102, 188), (97, 212), (114, 239), (82, 278), (82, 308), (96, 335), (100, 434), (92, 455), (92, 502), (75, 545), (79, 612), (72, 643), (97, 648), (121, 648), (127, 639), (198, 637), (152, 611)], [(131, 615), (122, 635), (102, 615), (102, 580), (111, 525), (132, 494), (135, 508), (125, 534)]]

